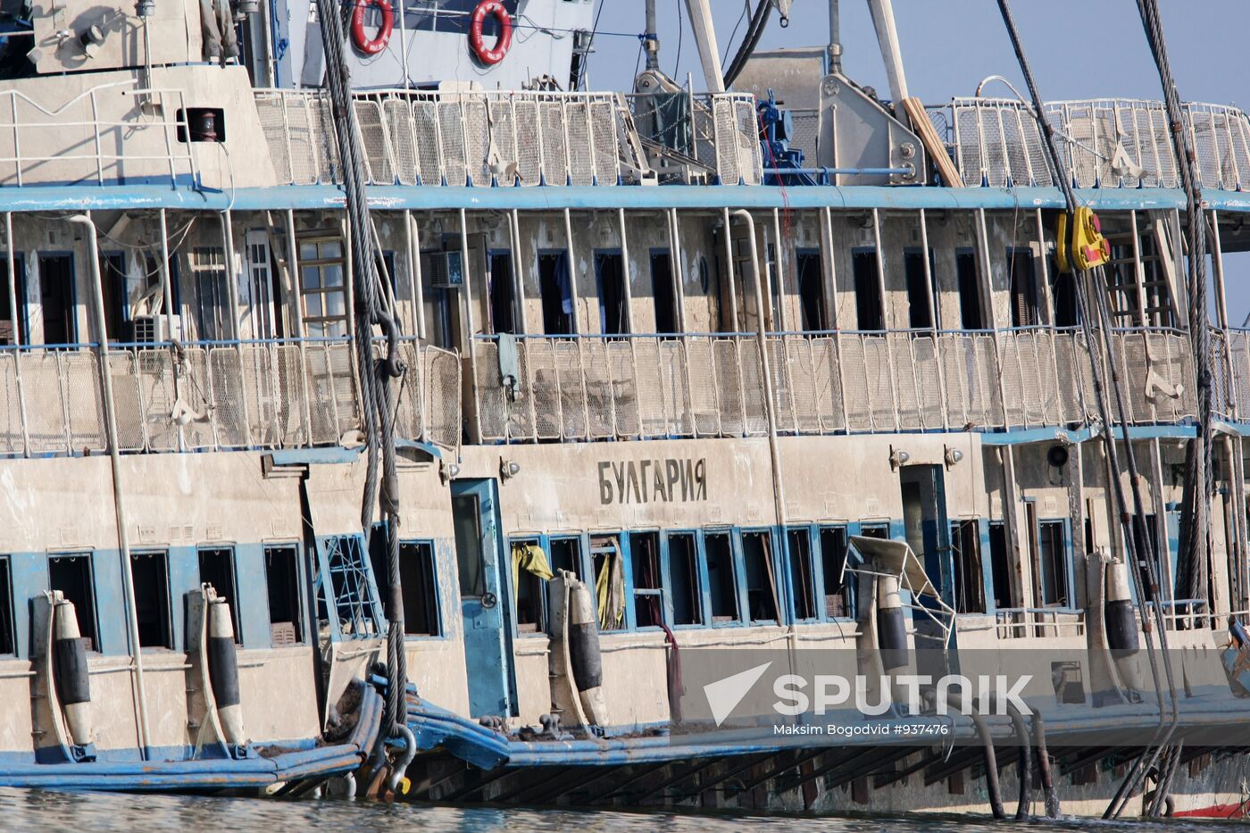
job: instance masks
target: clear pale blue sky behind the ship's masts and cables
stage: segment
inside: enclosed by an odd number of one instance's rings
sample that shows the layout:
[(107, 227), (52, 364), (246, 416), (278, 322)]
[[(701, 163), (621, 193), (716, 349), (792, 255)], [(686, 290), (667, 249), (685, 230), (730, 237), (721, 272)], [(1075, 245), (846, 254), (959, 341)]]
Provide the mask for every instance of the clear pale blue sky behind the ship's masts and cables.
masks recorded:
[[(642, 30), (644, 4), (601, 3), (590, 86), (628, 89), (640, 66), (636, 33)], [(736, 38), (730, 34), (742, 16), (744, 0), (710, 4), (721, 53), (735, 51), (745, 21)], [(1160, 5), (1181, 98), (1250, 104), (1245, 71), (1250, 0), (1161, 0)], [(658, 0), (658, 6), (660, 65), (678, 79), (692, 73), (695, 88), (702, 89), (699, 54), (684, 20), (685, 0)], [(1135, 0), (1014, 0), (1011, 10), (1044, 99), (1162, 98)], [(894, 0), (894, 13), (911, 95), (940, 104), (972, 95), (989, 75), (1005, 75), (1024, 90), (996, 0)], [(826, 0), (794, 0), (790, 26), (779, 26), (774, 14), (760, 48), (824, 45), (828, 14)], [(841, 0), (841, 35), (845, 73), (888, 95), (866, 0)], [(1229, 318), (1240, 324), (1250, 315), (1250, 255), (1226, 256), (1225, 271)]]

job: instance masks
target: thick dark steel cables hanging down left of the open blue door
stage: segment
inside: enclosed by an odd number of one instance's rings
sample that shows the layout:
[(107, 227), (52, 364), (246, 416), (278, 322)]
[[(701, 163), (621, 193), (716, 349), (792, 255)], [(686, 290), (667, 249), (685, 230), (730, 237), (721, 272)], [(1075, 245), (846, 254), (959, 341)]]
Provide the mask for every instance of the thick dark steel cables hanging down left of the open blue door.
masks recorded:
[[(326, 89), (334, 114), (334, 130), (342, 168), (342, 188), (350, 228), (351, 266), (355, 279), (355, 346), (360, 378), (361, 423), (366, 440), (365, 490), (361, 498), (360, 524), (365, 548), (371, 542), (374, 499), (379, 495), (382, 529), (388, 544), (386, 629), (386, 698), (382, 732), (379, 733), (380, 755), (388, 738), (401, 737), (405, 728), (404, 695), (408, 668), (404, 655), (404, 598), (399, 573), (399, 475), (395, 460), (394, 393), (391, 380), (404, 374), (399, 359), (399, 331), (385, 309), (379, 274), (379, 253), (374, 248), (372, 220), (365, 198), (365, 166), (359, 143), (356, 113), (351, 104), (351, 78), (344, 58), (346, 36), (342, 10), (335, 0), (316, 0), (321, 21), (321, 45), (325, 51)], [(386, 356), (374, 358), (374, 326), (386, 336)], [(380, 459), (379, 459), (380, 458)], [(381, 484), (379, 487), (379, 468)]]

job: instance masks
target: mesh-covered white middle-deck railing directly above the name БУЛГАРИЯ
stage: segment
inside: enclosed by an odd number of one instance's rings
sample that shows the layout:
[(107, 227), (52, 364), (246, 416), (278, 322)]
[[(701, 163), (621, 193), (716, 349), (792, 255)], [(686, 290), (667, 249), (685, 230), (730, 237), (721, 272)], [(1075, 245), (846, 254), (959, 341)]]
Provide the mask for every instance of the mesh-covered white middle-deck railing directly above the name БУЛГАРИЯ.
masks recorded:
[[(1182, 334), (1112, 339), (1130, 423), (1196, 413)], [(1089, 353), (1074, 330), (782, 333), (766, 343), (784, 433), (1062, 427), (1088, 424), (1096, 411)], [(501, 384), (494, 339), (474, 349), (488, 442), (768, 430), (751, 335), (521, 336), (515, 388)]]

